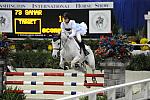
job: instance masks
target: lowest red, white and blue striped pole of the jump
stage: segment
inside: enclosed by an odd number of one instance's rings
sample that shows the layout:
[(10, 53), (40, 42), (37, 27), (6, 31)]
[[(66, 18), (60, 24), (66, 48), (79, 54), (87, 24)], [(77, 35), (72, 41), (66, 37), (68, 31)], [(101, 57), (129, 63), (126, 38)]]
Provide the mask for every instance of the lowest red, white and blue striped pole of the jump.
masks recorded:
[[(37, 90), (4, 90), (5, 93), (18, 93), (18, 94), (57, 94), (57, 95), (77, 95), (83, 92), (76, 91), (37, 91)], [(103, 92), (97, 93), (97, 95), (104, 95)]]

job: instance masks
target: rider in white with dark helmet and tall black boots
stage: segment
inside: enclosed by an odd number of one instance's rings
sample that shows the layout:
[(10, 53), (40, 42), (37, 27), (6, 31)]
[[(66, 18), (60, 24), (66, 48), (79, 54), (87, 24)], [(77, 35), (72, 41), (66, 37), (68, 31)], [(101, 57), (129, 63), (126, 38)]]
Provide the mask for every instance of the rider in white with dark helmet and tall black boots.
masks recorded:
[(69, 33), (69, 38), (75, 37), (80, 48), (82, 48), (85, 56), (89, 54), (89, 52), (85, 49), (84, 42), (81, 39), (81, 35), (85, 35), (87, 32), (87, 26), (84, 22), (81, 24), (76, 23), (75, 20), (71, 20), (71, 15), (68, 12), (63, 14), (64, 22), (61, 23), (62, 34), (65, 32)]

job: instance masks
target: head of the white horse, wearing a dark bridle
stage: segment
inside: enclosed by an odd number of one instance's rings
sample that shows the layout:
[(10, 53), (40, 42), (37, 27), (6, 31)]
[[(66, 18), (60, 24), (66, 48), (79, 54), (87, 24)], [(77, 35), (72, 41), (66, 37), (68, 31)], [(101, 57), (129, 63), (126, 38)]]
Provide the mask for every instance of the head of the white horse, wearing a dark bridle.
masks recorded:
[(61, 49), (61, 43), (60, 43), (60, 38), (59, 36), (53, 36), (52, 39), (52, 46), (53, 46), (53, 51), (52, 51), (52, 57), (53, 58), (57, 58), (58, 57), (58, 53)]

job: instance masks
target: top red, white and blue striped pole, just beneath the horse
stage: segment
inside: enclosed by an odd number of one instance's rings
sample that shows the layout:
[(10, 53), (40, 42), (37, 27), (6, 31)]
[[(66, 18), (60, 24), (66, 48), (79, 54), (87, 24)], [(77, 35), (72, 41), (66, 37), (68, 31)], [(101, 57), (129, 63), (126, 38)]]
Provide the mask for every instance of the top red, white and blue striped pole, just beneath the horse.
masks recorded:
[(5, 72), (6, 76), (70, 76), (70, 77), (104, 77), (104, 74), (51, 73), (51, 72)]

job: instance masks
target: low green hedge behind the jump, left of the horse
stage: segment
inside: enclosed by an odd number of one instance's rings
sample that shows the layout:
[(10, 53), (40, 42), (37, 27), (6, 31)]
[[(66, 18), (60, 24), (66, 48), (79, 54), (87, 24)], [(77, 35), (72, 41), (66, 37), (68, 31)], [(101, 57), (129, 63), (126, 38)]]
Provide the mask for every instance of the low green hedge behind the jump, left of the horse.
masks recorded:
[(11, 53), (14, 67), (24, 68), (58, 68), (59, 59), (53, 59), (50, 52), (18, 51)]

